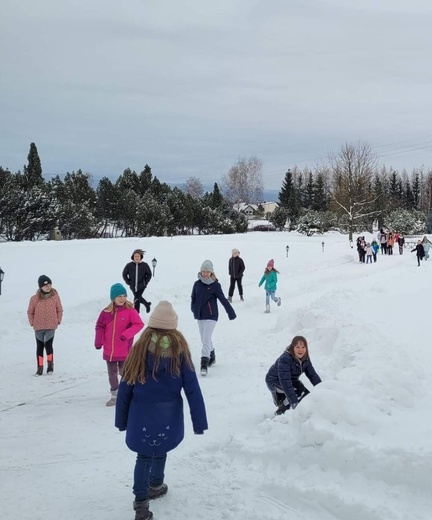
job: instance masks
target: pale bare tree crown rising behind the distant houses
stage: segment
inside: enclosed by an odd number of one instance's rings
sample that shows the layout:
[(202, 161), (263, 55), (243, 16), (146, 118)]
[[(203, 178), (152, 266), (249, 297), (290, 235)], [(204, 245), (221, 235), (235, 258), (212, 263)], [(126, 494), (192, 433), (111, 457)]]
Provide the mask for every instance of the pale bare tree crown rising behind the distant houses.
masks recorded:
[(222, 177), (225, 197), (232, 204), (256, 204), (263, 200), (263, 165), (258, 157), (241, 157)]

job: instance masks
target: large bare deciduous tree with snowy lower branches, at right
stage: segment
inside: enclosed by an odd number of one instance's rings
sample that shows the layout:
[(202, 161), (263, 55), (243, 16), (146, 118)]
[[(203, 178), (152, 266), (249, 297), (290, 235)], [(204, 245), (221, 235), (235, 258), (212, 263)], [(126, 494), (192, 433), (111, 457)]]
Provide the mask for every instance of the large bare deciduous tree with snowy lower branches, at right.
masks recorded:
[(354, 222), (379, 213), (372, 210), (375, 198), (371, 190), (378, 161), (369, 144), (360, 142), (356, 145), (346, 143), (329, 160), (330, 194), (337, 212), (348, 217), (349, 239), (352, 240)]

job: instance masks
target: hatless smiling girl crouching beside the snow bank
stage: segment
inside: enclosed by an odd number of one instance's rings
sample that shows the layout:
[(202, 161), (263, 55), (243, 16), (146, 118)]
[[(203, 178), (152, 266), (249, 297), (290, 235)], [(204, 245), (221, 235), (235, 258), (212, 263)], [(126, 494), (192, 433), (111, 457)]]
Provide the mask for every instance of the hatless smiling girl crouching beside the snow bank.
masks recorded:
[(294, 410), (309, 393), (299, 380), (303, 372), (314, 386), (321, 383), (321, 378), (309, 359), (306, 338), (295, 336), (291, 345), (270, 367), (266, 375), (267, 388), (273, 396), (274, 404), (278, 407), (275, 415), (282, 415), (290, 408)]

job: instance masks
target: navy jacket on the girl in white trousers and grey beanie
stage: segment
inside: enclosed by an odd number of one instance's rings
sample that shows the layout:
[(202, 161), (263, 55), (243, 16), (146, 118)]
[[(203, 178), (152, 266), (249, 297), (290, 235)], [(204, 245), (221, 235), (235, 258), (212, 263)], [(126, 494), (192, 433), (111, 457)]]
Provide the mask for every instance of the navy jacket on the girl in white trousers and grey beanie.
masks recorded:
[(219, 310), (217, 300), (224, 306), (230, 320), (234, 320), (237, 316), (229, 301), (225, 298), (221, 284), (214, 281), (211, 284), (205, 284), (201, 280), (197, 280), (192, 288), (191, 295), (191, 311), (196, 320), (215, 320), (219, 318)]

